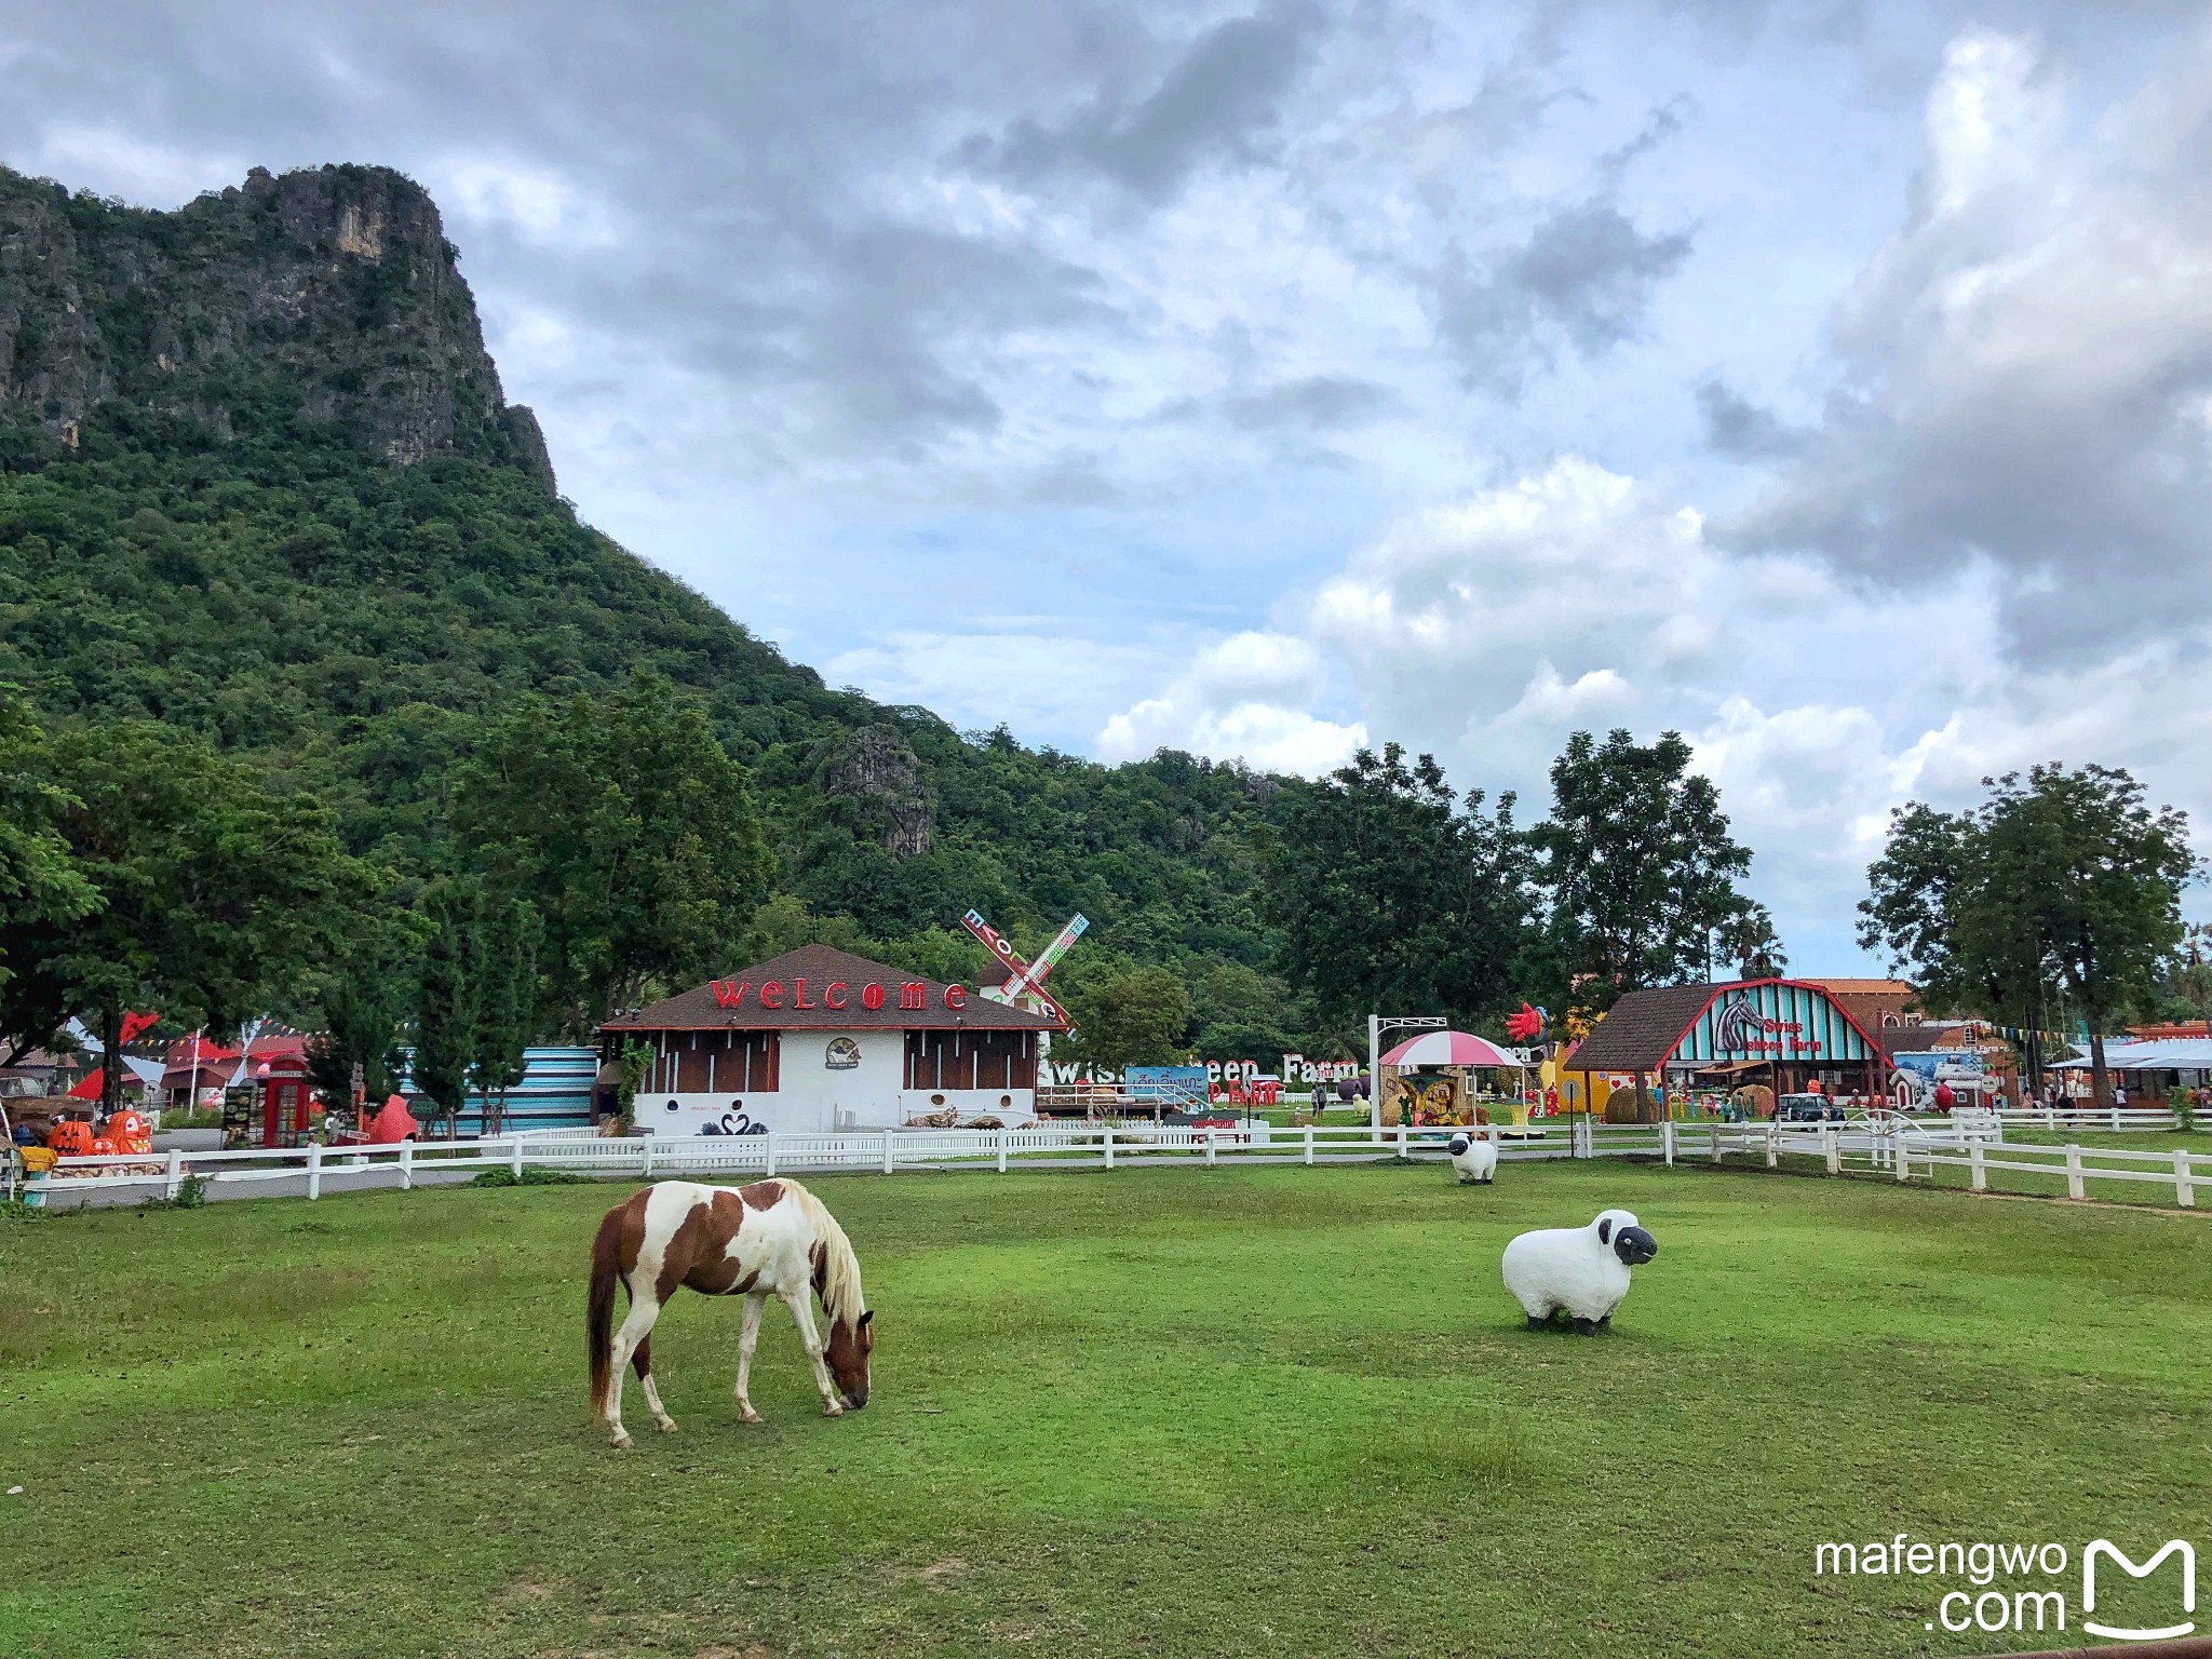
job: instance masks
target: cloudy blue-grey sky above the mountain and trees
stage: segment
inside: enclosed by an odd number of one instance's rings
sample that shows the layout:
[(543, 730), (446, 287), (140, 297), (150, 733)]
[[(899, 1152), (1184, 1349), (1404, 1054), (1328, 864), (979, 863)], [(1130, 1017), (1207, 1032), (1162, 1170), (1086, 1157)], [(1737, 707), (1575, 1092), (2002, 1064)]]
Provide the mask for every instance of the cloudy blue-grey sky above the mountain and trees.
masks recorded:
[(407, 170), (584, 515), (960, 726), (1674, 728), (1818, 971), (1905, 799), (2212, 827), (2203, 7), (9, 7), (0, 159)]

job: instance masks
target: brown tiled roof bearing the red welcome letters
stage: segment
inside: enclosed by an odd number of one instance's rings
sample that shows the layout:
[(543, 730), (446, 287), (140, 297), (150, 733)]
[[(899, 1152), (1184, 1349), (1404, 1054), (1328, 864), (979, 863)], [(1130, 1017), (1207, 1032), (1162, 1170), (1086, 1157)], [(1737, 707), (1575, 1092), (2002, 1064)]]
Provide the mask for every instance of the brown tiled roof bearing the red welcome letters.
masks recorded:
[[(801, 982), (805, 991), (801, 995)], [(726, 987), (717, 995), (714, 987)], [(761, 1004), (761, 987), (781, 987), (781, 1006)], [(883, 987), (883, 1006), (869, 1009), (863, 987)], [(900, 987), (920, 984), (922, 1006), (900, 1009)], [(830, 987), (843, 987), (843, 1009), (825, 1004)], [(796, 951), (757, 962), (739, 973), (710, 980), (692, 991), (655, 1002), (650, 1009), (615, 1015), (604, 1026), (606, 1033), (626, 1031), (1057, 1031), (1060, 1024), (1040, 1013), (1009, 1009), (1004, 1002), (987, 1002), (975, 991), (962, 991), (947, 1004), (947, 984), (922, 980), (914, 973), (869, 962), (852, 951), (836, 951), (827, 945), (801, 945)], [(739, 993), (741, 995), (734, 995)], [(734, 1006), (726, 998), (734, 995)], [(810, 1006), (796, 1006), (805, 1002)]]

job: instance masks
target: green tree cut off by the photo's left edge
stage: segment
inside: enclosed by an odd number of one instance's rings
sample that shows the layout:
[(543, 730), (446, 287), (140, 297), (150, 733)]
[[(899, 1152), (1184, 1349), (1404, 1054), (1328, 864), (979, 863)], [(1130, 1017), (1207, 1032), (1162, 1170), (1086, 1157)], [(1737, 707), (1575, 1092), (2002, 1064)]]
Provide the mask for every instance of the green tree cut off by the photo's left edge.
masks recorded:
[(100, 907), (62, 834), (64, 814), (80, 803), (53, 783), (51, 768), (44, 730), (20, 690), (0, 684), (0, 1040), (13, 1037), (0, 1064), (22, 1060), (71, 1013), (66, 991), (40, 973), (33, 940)]

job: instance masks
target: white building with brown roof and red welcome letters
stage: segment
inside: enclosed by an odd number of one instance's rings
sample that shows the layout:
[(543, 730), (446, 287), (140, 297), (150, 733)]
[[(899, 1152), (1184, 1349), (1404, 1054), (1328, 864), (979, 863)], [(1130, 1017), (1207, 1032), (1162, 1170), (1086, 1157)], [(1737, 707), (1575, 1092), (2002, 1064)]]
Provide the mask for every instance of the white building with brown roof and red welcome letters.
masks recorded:
[(1013, 1128), (1037, 1115), (1053, 1031), (967, 987), (805, 945), (615, 1015), (599, 1055), (653, 1051), (633, 1117), (657, 1137), (896, 1128), (945, 1110)]

